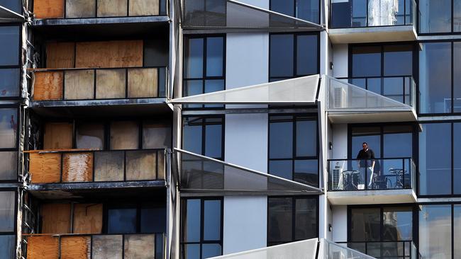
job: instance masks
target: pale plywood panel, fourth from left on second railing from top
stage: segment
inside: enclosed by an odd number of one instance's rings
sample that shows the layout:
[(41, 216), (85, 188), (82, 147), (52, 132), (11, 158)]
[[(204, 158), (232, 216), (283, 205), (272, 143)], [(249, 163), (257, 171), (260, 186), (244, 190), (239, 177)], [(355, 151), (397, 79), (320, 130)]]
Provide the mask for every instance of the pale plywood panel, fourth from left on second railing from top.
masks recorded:
[(128, 98), (158, 96), (158, 69), (128, 69)]

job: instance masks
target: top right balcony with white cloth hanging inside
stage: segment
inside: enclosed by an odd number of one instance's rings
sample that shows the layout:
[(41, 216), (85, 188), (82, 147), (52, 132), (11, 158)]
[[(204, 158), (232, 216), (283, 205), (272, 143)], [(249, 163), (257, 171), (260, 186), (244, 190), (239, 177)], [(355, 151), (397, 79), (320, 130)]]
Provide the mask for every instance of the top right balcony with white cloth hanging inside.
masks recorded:
[(333, 0), (330, 10), (333, 43), (416, 40), (415, 0)]

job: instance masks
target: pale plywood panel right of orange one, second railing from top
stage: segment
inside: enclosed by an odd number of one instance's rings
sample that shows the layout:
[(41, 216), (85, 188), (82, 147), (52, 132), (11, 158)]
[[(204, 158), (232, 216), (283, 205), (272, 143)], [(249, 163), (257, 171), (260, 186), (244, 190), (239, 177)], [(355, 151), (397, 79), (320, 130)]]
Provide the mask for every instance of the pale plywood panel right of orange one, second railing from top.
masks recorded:
[(64, 73), (65, 100), (94, 99), (94, 70), (74, 70)]

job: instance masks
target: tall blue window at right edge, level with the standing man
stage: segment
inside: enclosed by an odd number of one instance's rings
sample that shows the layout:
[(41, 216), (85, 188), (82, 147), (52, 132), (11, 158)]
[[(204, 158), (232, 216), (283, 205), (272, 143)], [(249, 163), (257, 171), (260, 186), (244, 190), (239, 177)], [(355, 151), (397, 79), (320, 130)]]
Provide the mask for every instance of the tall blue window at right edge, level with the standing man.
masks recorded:
[(419, 194), (460, 195), (461, 122), (422, 124), (419, 134)]

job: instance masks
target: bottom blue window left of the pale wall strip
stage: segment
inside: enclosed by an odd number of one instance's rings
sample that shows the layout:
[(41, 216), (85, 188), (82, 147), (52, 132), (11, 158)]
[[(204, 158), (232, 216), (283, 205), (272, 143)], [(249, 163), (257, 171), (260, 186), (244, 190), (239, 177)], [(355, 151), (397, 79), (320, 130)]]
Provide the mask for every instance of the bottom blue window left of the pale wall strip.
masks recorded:
[(222, 198), (182, 200), (181, 258), (200, 259), (222, 255)]

